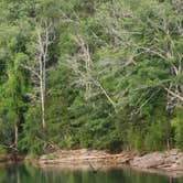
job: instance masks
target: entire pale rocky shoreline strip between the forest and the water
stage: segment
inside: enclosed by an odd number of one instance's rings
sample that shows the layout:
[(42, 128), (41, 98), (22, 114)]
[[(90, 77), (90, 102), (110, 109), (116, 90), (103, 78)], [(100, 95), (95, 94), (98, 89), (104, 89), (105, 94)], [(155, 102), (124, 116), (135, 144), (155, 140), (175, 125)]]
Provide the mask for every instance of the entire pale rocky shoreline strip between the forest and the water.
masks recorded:
[(63, 169), (99, 170), (129, 165), (136, 171), (183, 176), (183, 152), (173, 149), (164, 152), (152, 152), (141, 155), (137, 152), (109, 154), (97, 150), (60, 150), (44, 154), (36, 160), (36, 165), (60, 166)]

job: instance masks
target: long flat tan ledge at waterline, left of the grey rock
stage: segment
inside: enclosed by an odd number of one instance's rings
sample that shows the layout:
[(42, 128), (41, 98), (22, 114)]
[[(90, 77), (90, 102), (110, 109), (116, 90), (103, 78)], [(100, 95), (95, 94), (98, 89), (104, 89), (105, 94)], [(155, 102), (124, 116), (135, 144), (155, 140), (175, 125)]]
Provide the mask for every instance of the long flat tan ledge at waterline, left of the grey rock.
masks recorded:
[(39, 160), (40, 164), (87, 164), (94, 163), (101, 164), (122, 164), (131, 160), (132, 154), (120, 153), (109, 154), (104, 151), (97, 150), (71, 150), (71, 151), (57, 151), (51, 154), (42, 155)]

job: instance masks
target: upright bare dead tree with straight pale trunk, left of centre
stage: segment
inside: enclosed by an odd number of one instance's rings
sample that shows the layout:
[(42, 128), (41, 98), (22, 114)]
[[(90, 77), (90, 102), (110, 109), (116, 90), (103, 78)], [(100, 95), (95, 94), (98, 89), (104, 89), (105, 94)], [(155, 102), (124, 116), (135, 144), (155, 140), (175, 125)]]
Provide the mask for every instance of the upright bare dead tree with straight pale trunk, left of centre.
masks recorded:
[(34, 95), (30, 95), (34, 103), (41, 104), (42, 127), (45, 128), (45, 94), (46, 94), (46, 64), (49, 61), (49, 46), (54, 41), (53, 24), (49, 20), (41, 20), (35, 26), (34, 62), (23, 63), (30, 71), (34, 85)]

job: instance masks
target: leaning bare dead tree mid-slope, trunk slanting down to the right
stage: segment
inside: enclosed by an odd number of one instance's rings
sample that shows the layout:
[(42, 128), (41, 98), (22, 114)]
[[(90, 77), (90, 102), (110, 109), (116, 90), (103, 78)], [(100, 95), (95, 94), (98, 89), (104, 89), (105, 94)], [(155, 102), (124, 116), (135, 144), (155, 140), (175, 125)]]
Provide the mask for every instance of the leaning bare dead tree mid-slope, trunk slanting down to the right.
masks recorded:
[(80, 35), (75, 35), (73, 39), (77, 43), (79, 50), (74, 56), (68, 57), (67, 65), (72, 67), (72, 69), (78, 76), (79, 79), (77, 83), (82, 86), (85, 86), (85, 90), (88, 97), (93, 95), (93, 87), (99, 88), (99, 90), (106, 96), (108, 101), (116, 110), (116, 103), (94, 74), (94, 62), (90, 56), (88, 44)]

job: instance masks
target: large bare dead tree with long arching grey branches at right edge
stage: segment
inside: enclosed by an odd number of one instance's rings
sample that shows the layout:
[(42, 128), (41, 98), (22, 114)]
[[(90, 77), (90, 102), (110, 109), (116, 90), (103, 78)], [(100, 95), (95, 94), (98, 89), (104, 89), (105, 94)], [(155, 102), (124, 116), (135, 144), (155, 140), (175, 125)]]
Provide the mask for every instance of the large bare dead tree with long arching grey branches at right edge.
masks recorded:
[(173, 109), (175, 106), (183, 106), (183, 84), (181, 82), (174, 82), (174, 78), (181, 77), (183, 73), (183, 53), (176, 49), (177, 40), (183, 36), (181, 18), (183, 3), (181, 0), (172, 1), (172, 3), (174, 6), (174, 13), (179, 14), (179, 19), (173, 22), (173, 30), (171, 19), (163, 13), (161, 14), (162, 18), (160, 21), (153, 21), (152, 19), (147, 18), (147, 21), (151, 24), (149, 30), (151, 32), (155, 31), (160, 34), (163, 33), (166, 37), (166, 40), (163, 41), (161, 37), (154, 36), (152, 43), (147, 45), (138, 43), (131, 39), (131, 35), (140, 35), (142, 34), (141, 32), (126, 29), (126, 22), (123, 20), (127, 17), (137, 24), (141, 24), (141, 20), (138, 20), (138, 18), (134, 17), (133, 12), (130, 11), (130, 8), (123, 9), (122, 4), (111, 4), (108, 7), (108, 12), (106, 11), (106, 13), (104, 13), (98, 11), (96, 18), (97, 21), (103, 22), (104, 30), (114, 37), (112, 42), (108, 43), (108, 47), (122, 46), (131, 47), (137, 51), (138, 54), (134, 54), (131, 60), (133, 64), (136, 63), (136, 57), (144, 54), (159, 57), (160, 61), (164, 62), (166, 65), (169, 64), (172, 79), (169, 82), (165, 80), (164, 83), (162, 80), (159, 85), (159, 87), (163, 88), (168, 94), (166, 109)]

